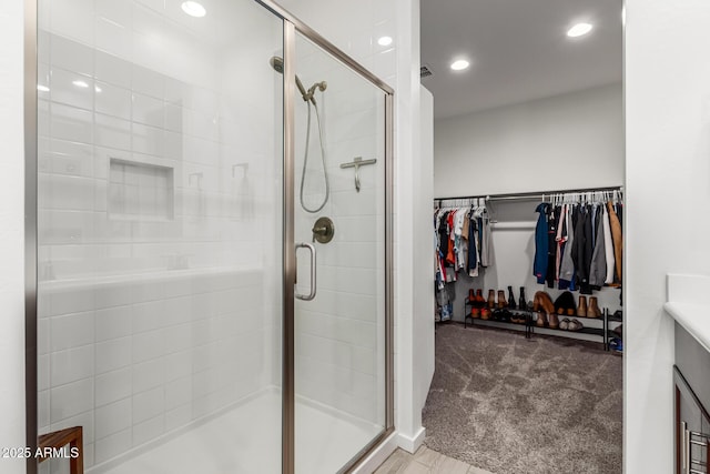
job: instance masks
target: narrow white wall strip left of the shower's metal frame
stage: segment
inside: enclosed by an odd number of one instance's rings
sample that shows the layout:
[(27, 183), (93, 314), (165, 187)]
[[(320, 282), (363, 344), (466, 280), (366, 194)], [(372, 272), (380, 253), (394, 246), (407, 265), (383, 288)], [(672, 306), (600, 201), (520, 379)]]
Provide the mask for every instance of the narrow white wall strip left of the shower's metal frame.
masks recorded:
[[(3, 2), (0, 13), (0, 446), (24, 446), (24, 143), (23, 8)], [(0, 471), (24, 472), (24, 460), (0, 458)]]

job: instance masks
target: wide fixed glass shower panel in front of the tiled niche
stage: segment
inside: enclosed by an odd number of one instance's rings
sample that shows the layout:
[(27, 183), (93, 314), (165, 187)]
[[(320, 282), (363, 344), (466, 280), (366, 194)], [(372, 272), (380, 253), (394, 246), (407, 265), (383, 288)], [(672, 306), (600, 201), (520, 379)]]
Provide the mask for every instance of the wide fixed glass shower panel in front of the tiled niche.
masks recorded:
[(88, 473), (282, 468), (284, 22), (192, 3), (39, 1), (38, 428)]

